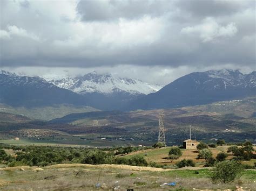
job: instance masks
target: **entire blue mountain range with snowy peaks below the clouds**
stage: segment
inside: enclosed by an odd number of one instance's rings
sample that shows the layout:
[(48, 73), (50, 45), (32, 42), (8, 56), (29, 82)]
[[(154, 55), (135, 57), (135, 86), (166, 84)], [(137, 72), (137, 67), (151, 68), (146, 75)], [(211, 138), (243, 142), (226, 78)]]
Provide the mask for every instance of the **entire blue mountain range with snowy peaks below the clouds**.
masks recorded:
[(101, 110), (179, 108), (256, 95), (256, 72), (195, 72), (167, 84), (92, 72), (83, 76), (21, 76), (0, 72), (0, 103), (14, 107), (52, 104), (87, 105)]

